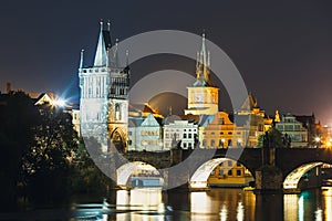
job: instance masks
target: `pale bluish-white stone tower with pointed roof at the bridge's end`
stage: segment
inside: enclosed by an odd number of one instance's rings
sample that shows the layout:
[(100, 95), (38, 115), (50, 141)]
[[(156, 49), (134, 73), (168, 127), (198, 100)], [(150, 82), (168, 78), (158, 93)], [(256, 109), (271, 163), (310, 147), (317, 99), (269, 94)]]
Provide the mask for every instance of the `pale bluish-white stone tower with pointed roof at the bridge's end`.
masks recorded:
[(81, 88), (81, 131), (83, 137), (94, 137), (107, 151), (107, 138), (121, 151), (127, 147), (129, 69), (121, 66), (117, 40), (112, 43), (110, 22), (107, 29), (101, 21), (94, 64), (84, 67), (84, 51), (79, 69)]

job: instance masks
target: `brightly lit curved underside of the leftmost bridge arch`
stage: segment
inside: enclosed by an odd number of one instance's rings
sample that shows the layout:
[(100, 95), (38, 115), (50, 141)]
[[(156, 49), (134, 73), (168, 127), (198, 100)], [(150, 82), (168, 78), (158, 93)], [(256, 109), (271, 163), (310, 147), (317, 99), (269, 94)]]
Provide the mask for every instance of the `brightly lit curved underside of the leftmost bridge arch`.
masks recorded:
[(126, 189), (128, 187), (128, 179), (132, 175), (134, 175), (136, 171), (149, 171), (153, 175), (158, 175), (158, 170), (153, 167), (152, 165), (148, 165), (143, 161), (133, 161), (133, 162), (127, 162), (125, 165), (122, 165), (120, 168), (116, 170), (116, 185), (121, 188)]

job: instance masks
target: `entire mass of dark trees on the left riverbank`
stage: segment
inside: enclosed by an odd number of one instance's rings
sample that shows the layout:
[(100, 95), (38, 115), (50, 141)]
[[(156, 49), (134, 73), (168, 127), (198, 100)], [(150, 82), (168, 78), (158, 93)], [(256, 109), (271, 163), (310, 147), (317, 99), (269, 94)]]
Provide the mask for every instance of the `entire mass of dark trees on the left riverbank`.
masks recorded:
[(35, 106), (13, 92), (1, 95), (0, 120), (0, 210), (14, 208), (19, 190), (29, 201), (59, 202), (76, 192), (104, 194), (114, 185), (94, 165), (65, 109)]

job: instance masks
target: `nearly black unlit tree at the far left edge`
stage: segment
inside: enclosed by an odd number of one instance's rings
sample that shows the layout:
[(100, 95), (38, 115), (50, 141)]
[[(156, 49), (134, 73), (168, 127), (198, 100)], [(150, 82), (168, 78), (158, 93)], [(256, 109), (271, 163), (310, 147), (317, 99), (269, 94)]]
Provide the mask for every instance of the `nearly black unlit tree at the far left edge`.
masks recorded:
[(33, 143), (38, 110), (23, 92), (2, 95), (0, 104), (0, 198), (1, 209), (13, 208), (21, 180), (22, 156)]

